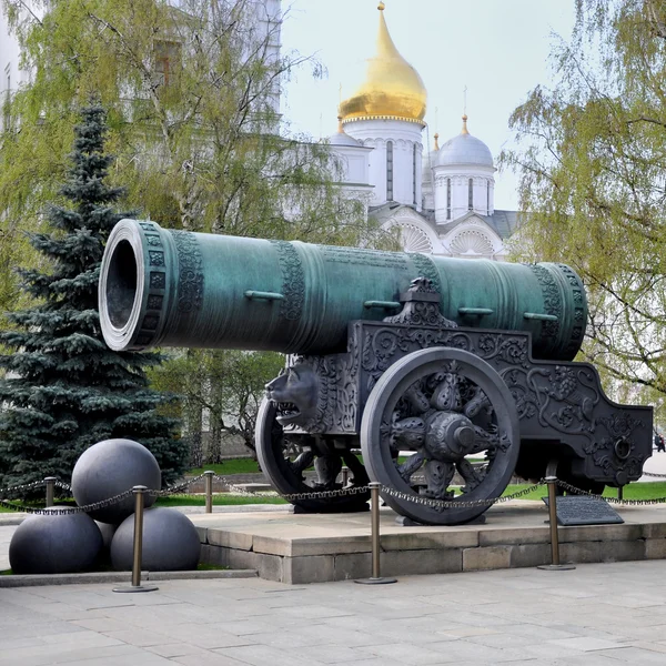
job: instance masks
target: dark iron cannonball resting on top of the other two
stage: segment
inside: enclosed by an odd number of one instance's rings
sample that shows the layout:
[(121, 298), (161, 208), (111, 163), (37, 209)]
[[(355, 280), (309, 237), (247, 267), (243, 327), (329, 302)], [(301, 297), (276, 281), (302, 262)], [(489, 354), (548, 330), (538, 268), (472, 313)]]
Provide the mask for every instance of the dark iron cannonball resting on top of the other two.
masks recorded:
[[(79, 506), (114, 497), (135, 485), (159, 490), (162, 473), (154, 455), (132, 440), (104, 440), (85, 450), (72, 472), (72, 494)], [(144, 506), (155, 497), (144, 494)], [(134, 512), (134, 496), (88, 512), (95, 521), (118, 525)]]

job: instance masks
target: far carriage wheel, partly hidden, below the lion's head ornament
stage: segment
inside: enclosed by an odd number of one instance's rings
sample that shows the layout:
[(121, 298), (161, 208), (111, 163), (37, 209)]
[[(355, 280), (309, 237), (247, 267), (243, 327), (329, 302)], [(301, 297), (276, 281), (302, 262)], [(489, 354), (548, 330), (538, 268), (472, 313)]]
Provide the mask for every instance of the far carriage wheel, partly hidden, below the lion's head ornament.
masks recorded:
[[(264, 398), (256, 415), (256, 456), (271, 484), (282, 495), (321, 494), (321, 497), (289, 501), (313, 513), (335, 513), (367, 508), (370, 493), (327, 497), (326, 491), (342, 488), (337, 474), (342, 465), (350, 467), (351, 487), (366, 486), (369, 478), (363, 465), (350, 451), (317, 452), (309, 435), (290, 435), (275, 420), (276, 406)], [(304, 472), (314, 467), (306, 478)]]

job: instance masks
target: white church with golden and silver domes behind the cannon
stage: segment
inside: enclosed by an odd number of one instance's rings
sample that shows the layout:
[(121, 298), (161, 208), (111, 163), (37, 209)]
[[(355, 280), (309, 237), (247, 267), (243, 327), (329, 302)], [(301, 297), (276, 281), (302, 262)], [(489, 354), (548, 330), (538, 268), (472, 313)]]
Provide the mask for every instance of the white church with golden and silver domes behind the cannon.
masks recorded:
[(377, 9), (375, 56), (329, 139), (342, 185), (385, 229), (400, 230), (407, 252), (504, 261), (518, 213), (495, 209), (488, 147), (470, 133), (466, 114), (458, 134), (424, 147), (425, 85), (393, 43), (384, 3)]

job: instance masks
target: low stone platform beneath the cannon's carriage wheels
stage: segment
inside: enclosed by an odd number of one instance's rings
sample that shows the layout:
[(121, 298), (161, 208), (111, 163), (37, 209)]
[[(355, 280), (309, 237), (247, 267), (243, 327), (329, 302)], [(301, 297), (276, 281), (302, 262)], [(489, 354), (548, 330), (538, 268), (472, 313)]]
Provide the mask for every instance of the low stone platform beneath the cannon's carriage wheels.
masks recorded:
[[(666, 506), (616, 507), (624, 524), (559, 527), (561, 562), (666, 558)], [(541, 502), (491, 507), (481, 525), (404, 527), (381, 511), (381, 573), (443, 574), (551, 564), (547, 512)], [(262, 578), (302, 584), (371, 575), (370, 513), (213, 513), (190, 516), (202, 561), (256, 569)]]

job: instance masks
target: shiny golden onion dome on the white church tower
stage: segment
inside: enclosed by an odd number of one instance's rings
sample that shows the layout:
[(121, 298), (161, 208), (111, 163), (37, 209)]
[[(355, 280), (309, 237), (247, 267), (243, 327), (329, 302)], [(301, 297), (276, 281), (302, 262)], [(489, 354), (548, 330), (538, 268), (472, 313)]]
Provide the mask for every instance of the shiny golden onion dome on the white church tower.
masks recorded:
[(340, 104), (343, 122), (386, 118), (424, 124), (427, 93), (418, 72), (398, 53), (380, 2), (380, 31), (374, 58), (366, 60), (365, 81)]

